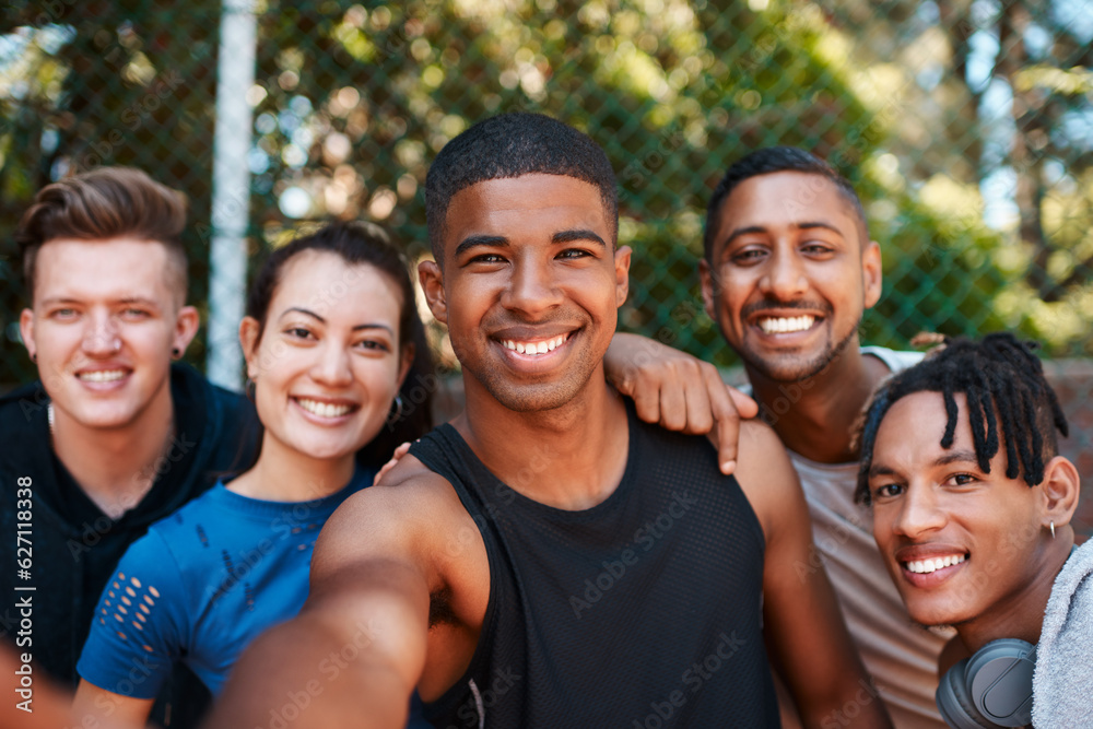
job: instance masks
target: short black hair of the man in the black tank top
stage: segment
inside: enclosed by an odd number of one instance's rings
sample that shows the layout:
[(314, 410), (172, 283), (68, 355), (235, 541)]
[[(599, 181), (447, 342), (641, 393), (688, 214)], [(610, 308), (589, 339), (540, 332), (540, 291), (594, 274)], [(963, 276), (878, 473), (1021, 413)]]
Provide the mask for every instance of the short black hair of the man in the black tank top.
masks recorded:
[(479, 121), (448, 142), (425, 177), (425, 217), (437, 262), (443, 260), (448, 203), (460, 190), (490, 179), (531, 174), (575, 177), (600, 189), (619, 235), (619, 190), (608, 155), (587, 134), (542, 114), (514, 111)]

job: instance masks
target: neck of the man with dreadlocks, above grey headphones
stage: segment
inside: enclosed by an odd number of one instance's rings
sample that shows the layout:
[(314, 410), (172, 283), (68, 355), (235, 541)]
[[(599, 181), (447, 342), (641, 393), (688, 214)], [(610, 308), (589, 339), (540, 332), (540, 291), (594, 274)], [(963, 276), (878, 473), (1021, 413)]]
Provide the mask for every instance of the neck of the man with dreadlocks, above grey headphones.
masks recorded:
[(955, 626), (971, 652), (999, 638), (1020, 638), (1034, 645), (1039, 640), (1051, 587), (1074, 545), (1071, 529), (1059, 531), (1066, 533), (1059, 533), (1058, 539), (1045, 540), (1039, 558), (1030, 569), (1030, 580), (1007, 598), (1004, 608), (999, 607)]

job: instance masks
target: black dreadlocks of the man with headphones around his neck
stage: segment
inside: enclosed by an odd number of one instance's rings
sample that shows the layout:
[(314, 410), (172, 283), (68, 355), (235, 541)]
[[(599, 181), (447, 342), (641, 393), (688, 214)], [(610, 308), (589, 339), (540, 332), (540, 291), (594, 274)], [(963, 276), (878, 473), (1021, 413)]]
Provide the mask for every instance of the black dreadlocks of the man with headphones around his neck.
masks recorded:
[[(1006, 477), (1019, 475), (1030, 486), (1044, 480), (1044, 465), (1058, 454), (1055, 430), (1069, 435), (1055, 390), (1047, 384), (1034, 350), (1013, 334), (987, 334), (975, 342), (943, 338), (944, 343), (919, 364), (890, 377), (877, 390), (861, 419), (861, 461), (855, 499), (869, 504), (869, 469), (881, 421), (901, 398), (940, 392), (945, 401), (941, 447), (951, 448), (956, 432), (957, 392), (967, 400), (968, 424), (979, 468), (990, 472), (990, 459), (1006, 446)], [(937, 338), (931, 341), (936, 342)]]

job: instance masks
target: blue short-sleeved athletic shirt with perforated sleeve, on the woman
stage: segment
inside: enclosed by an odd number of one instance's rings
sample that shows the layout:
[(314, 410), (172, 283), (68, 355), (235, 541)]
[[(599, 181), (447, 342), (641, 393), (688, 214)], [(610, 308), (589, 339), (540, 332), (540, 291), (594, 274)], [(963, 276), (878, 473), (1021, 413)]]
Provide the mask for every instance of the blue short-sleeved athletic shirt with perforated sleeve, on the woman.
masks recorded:
[(152, 525), (99, 598), (80, 675), (154, 698), (183, 661), (220, 695), (250, 642), (299, 612), (319, 530), (373, 475), (359, 468), (344, 489), (312, 502), (249, 498), (221, 482)]

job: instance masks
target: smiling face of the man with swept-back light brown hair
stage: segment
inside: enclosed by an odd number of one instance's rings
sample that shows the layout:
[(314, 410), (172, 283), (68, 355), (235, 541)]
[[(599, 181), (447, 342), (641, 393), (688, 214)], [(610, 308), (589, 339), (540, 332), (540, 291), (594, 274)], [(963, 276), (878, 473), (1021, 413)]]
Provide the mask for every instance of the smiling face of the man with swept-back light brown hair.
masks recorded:
[(125, 428), (145, 413), (171, 412), (172, 350), (185, 351), (198, 328), (174, 267), (155, 242), (42, 246), (33, 308), (20, 328), (59, 421)]

